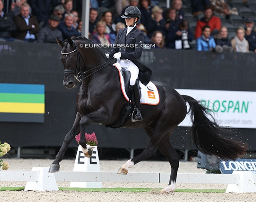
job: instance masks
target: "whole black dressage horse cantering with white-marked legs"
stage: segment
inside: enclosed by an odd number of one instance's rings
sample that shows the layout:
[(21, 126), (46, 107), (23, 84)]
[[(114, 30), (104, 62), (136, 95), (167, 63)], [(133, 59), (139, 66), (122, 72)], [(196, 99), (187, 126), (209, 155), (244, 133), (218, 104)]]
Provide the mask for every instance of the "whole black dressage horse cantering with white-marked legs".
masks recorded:
[[(119, 73), (99, 48), (89, 48), (93, 43), (84, 37), (57, 41), (62, 48), (60, 59), (64, 66), (63, 85), (66, 88), (74, 88), (77, 80), (80, 80), (82, 86), (76, 97), (78, 112), (74, 124), (50, 165), (49, 173), (59, 171), (59, 162), (70, 142), (79, 132), (85, 134), (87, 125), (111, 125), (119, 119), (121, 110), (127, 105), (121, 92)], [(169, 185), (161, 192), (169, 193), (175, 190), (180, 158), (171, 146), (170, 136), (187, 115), (186, 102), (190, 105), (193, 140), (198, 150), (224, 160), (235, 160), (246, 153), (247, 145), (227, 138), (225, 130), (219, 127), (214, 119), (207, 117), (208, 108), (200, 105), (193, 97), (180, 95), (165, 83), (153, 83), (158, 88), (160, 103), (142, 105), (143, 121), (132, 123), (129, 119), (123, 125), (131, 129), (144, 128), (150, 137), (150, 143), (141, 154), (124, 163), (118, 171), (119, 174), (127, 174), (128, 168), (149, 158), (158, 148), (171, 164)], [(83, 147), (85, 156), (90, 157), (92, 149), (86, 144), (84, 135), (81, 135), (79, 144)]]

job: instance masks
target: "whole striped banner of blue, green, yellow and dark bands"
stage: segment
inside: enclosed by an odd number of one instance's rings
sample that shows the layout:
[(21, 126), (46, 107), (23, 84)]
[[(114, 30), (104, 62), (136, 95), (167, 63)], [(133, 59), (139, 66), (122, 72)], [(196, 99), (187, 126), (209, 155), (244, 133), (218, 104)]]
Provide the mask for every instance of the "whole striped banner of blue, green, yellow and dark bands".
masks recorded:
[(0, 121), (43, 123), (45, 86), (0, 83)]

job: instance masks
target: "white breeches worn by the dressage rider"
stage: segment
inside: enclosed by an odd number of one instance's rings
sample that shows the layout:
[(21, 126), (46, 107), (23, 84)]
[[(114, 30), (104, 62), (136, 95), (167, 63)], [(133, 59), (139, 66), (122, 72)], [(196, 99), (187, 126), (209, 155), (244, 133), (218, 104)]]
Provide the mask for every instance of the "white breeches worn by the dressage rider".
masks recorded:
[(124, 71), (131, 72), (130, 85), (134, 86), (139, 75), (139, 68), (130, 60), (117, 60)]

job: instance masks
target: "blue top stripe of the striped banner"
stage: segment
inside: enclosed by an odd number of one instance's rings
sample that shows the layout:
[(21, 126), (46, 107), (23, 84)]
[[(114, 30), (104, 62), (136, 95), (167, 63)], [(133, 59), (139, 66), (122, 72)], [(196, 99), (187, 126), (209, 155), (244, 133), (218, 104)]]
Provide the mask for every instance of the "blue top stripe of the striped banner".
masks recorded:
[(0, 83), (0, 93), (45, 94), (45, 85)]

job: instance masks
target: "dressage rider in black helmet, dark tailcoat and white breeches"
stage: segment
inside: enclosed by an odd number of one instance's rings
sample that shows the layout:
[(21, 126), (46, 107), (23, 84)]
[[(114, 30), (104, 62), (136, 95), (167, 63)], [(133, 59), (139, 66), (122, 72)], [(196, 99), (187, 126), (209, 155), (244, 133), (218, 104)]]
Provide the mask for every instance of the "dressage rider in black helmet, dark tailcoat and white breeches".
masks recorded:
[(117, 62), (121, 64), (124, 71), (131, 73), (130, 85), (132, 87), (132, 98), (135, 105), (132, 122), (142, 121), (139, 82), (137, 78), (139, 76), (141, 83), (146, 86), (150, 81), (152, 72), (149, 68), (137, 61), (141, 57), (143, 50), (141, 44), (144, 44), (143, 33), (136, 27), (136, 23), (141, 18), (141, 12), (137, 7), (130, 6), (125, 9), (124, 15), (121, 17), (125, 18), (127, 28), (119, 30), (113, 48), (106, 53), (106, 56), (117, 59)]

